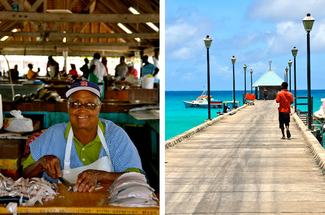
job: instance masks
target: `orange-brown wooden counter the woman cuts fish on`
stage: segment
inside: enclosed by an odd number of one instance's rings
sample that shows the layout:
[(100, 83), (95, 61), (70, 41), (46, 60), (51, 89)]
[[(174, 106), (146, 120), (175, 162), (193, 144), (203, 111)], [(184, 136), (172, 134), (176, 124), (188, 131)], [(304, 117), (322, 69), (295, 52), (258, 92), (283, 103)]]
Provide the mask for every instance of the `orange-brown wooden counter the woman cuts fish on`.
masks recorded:
[[(92, 193), (73, 192), (58, 184), (59, 194), (54, 200), (38, 203), (32, 207), (18, 206), (18, 214), (134, 214), (134, 215), (159, 215), (159, 208), (126, 208), (109, 206), (105, 201), (107, 199), (107, 187), (110, 185), (102, 185), (104, 188), (95, 190)], [(159, 205), (159, 202), (158, 202)], [(10, 214), (6, 210), (6, 205), (0, 205), (0, 214)]]

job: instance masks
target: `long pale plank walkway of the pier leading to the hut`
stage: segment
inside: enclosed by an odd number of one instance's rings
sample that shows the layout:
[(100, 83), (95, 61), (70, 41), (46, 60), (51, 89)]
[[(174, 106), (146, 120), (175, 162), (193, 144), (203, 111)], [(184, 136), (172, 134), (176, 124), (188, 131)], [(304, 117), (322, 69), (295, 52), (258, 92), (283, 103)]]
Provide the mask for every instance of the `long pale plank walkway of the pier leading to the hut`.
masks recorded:
[(325, 213), (325, 151), (295, 115), (281, 140), (277, 107), (255, 101), (167, 148), (165, 214)]

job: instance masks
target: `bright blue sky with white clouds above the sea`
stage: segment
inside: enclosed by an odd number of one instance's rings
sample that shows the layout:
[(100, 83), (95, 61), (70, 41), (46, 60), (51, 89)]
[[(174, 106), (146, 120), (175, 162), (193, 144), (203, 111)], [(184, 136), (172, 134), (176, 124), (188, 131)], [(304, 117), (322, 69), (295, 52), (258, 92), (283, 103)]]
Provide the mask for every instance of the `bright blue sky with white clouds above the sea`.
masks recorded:
[[(205, 3), (203, 3), (205, 2)], [(292, 48), (296, 57), (297, 89), (307, 89), (307, 36), (302, 19), (316, 21), (310, 32), (311, 89), (325, 89), (324, 0), (165, 0), (165, 90), (203, 90), (207, 84), (207, 49), (210, 48), (211, 90), (246, 89), (271, 69), (284, 79)], [(289, 67), (289, 66), (288, 66)], [(293, 63), (291, 70), (293, 89)], [(288, 72), (289, 73), (289, 72)], [(207, 88), (207, 87), (206, 87)]]

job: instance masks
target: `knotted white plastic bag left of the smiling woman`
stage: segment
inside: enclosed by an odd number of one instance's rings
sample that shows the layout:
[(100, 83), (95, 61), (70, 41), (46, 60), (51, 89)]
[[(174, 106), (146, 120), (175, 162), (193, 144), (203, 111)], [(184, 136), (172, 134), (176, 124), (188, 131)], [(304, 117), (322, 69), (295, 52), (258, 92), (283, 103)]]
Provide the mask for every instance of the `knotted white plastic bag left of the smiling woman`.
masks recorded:
[(10, 114), (15, 116), (14, 118), (4, 119), (4, 129), (11, 132), (27, 132), (33, 131), (33, 121), (30, 118), (25, 118), (21, 115), (21, 111), (12, 110)]

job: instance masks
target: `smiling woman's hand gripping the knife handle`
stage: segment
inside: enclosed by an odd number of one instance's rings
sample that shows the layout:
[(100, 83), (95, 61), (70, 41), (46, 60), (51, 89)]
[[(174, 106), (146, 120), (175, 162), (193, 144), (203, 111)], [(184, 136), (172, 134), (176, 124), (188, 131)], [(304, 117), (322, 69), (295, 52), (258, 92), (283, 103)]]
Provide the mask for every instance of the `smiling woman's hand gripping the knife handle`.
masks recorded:
[(40, 158), (39, 164), (52, 179), (61, 177), (60, 160), (54, 155), (46, 155)]

